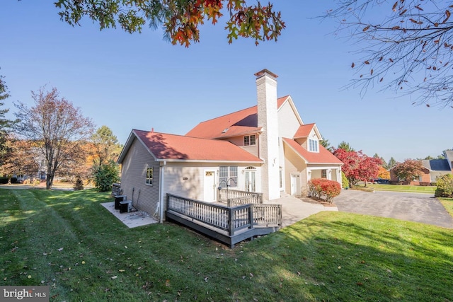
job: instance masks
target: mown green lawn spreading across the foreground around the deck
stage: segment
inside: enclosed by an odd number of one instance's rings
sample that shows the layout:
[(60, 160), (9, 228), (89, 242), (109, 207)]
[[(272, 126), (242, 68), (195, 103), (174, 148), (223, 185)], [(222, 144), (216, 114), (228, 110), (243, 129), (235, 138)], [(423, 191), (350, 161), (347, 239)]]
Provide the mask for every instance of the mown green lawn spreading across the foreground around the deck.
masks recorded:
[[(326, 211), (233, 250), (94, 190), (0, 190), (0, 284), (50, 301), (453, 301), (453, 230)], [(452, 202), (447, 200), (447, 202)]]

